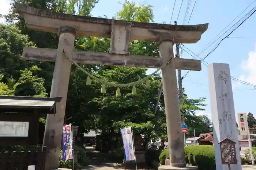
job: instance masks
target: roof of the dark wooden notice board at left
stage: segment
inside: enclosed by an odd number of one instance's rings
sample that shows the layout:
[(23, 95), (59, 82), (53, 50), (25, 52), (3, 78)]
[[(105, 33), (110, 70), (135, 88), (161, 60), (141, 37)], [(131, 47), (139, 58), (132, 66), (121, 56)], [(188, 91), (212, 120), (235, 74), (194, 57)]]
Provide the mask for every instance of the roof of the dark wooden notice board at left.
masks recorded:
[(0, 111), (12, 110), (45, 110), (48, 114), (56, 113), (56, 102), (60, 102), (62, 97), (42, 98), (42, 97), (23, 97), (23, 96), (1, 96)]

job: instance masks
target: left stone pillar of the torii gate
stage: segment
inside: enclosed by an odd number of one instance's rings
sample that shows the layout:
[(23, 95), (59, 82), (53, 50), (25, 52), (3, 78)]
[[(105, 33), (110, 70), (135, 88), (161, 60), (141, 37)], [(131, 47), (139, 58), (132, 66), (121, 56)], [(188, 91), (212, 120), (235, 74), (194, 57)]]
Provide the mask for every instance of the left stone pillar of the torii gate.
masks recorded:
[(50, 97), (63, 96), (56, 104), (56, 114), (48, 114), (46, 118), (45, 134), (43, 146), (46, 147), (45, 170), (58, 169), (59, 154), (61, 148), (62, 128), (65, 117), (65, 109), (68, 94), (68, 83), (71, 62), (63, 56), (63, 50), (72, 56), (75, 43), (76, 29), (71, 27), (61, 27), (59, 29), (59, 44), (57, 58), (54, 66), (52, 87)]

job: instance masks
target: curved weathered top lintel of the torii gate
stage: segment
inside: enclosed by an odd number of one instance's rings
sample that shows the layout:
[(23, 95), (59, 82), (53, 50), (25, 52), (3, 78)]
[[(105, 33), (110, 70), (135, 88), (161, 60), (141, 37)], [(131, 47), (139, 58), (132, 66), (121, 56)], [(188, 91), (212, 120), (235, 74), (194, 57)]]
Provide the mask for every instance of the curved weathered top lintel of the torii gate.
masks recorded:
[(162, 37), (170, 37), (175, 43), (196, 43), (207, 24), (169, 25), (143, 23), (135, 21), (112, 20), (98, 17), (69, 15), (29, 7), (15, 1), (20, 17), (25, 18), (28, 28), (37, 31), (57, 33), (60, 27), (69, 26), (77, 29), (80, 36), (110, 37), (111, 25), (131, 25), (131, 39), (157, 42)]

